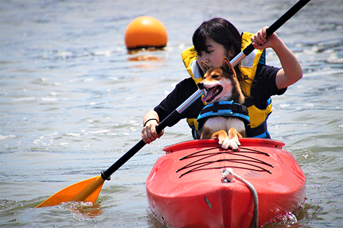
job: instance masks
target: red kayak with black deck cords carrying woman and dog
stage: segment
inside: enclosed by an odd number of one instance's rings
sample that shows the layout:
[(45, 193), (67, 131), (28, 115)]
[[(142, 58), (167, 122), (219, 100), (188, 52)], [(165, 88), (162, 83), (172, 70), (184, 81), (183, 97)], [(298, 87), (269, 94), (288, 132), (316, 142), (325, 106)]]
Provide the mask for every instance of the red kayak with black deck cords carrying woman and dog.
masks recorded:
[[(296, 214), (305, 200), (306, 180), (294, 156), (282, 149), (285, 144), (239, 141), (237, 151), (224, 151), (213, 139), (165, 147), (167, 154), (146, 181), (156, 218), (168, 227), (249, 227), (257, 216), (261, 227)], [(255, 188), (258, 203), (244, 180)]]

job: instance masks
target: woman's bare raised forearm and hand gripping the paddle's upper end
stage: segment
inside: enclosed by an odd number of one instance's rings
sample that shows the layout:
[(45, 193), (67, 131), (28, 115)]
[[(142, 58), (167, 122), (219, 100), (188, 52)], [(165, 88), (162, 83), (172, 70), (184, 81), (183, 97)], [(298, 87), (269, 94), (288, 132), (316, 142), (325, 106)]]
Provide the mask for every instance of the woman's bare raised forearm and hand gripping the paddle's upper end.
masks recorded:
[(255, 49), (267, 49), (271, 47), (281, 62), (281, 70), (276, 74), (276, 86), (279, 89), (290, 86), (303, 77), (303, 69), (300, 62), (289, 50), (289, 48), (282, 42), (282, 40), (275, 33), (272, 34), (268, 40), (266, 30), (268, 27), (263, 27), (255, 36), (252, 36), (251, 41)]

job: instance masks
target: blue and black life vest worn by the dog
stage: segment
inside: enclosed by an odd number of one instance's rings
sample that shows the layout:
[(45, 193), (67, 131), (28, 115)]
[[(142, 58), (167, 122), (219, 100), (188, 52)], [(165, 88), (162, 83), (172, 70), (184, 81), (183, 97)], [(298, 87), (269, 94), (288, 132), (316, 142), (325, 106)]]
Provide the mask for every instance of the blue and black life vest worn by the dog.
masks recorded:
[(240, 118), (244, 122), (244, 125), (250, 123), (246, 106), (234, 103), (233, 101), (219, 101), (205, 105), (196, 119), (199, 129), (202, 127), (204, 119), (209, 116), (233, 116)]

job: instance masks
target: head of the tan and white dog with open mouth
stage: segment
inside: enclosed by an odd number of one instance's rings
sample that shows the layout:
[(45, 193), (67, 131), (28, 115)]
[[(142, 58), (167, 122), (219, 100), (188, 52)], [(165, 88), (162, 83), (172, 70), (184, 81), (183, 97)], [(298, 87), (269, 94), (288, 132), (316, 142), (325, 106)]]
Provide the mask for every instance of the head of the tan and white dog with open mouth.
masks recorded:
[(205, 73), (204, 79), (198, 83), (200, 90), (204, 90), (202, 101), (206, 101), (206, 103), (235, 101), (238, 93), (239, 100), (235, 102), (242, 103), (241, 90), (235, 69), (228, 61), (228, 58), (225, 57), (223, 59), (222, 66), (220, 67), (211, 68), (205, 62), (201, 62), (201, 64)]

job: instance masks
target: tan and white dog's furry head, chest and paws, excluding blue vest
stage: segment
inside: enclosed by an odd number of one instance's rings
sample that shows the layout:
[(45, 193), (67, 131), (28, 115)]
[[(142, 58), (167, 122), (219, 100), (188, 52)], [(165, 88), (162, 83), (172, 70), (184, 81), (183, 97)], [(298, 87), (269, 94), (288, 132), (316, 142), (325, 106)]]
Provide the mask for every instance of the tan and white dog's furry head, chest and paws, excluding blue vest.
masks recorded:
[[(210, 68), (201, 62), (204, 69), (204, 79), (198, 87), (204, 90), (202, 101), (213, 103), (215, 101), (233, 101), (243, 104), (244, 95), (241, 92), (235, 69), (224, 58), (221, 67)], [(229, 147), (237, 150), (240, 146), (238, 138), (246, 136), (244, 122), (232, 116), (210, 116), (204, 120), (197, 133), (198, 138), (217, 138), (223, 149)]]

